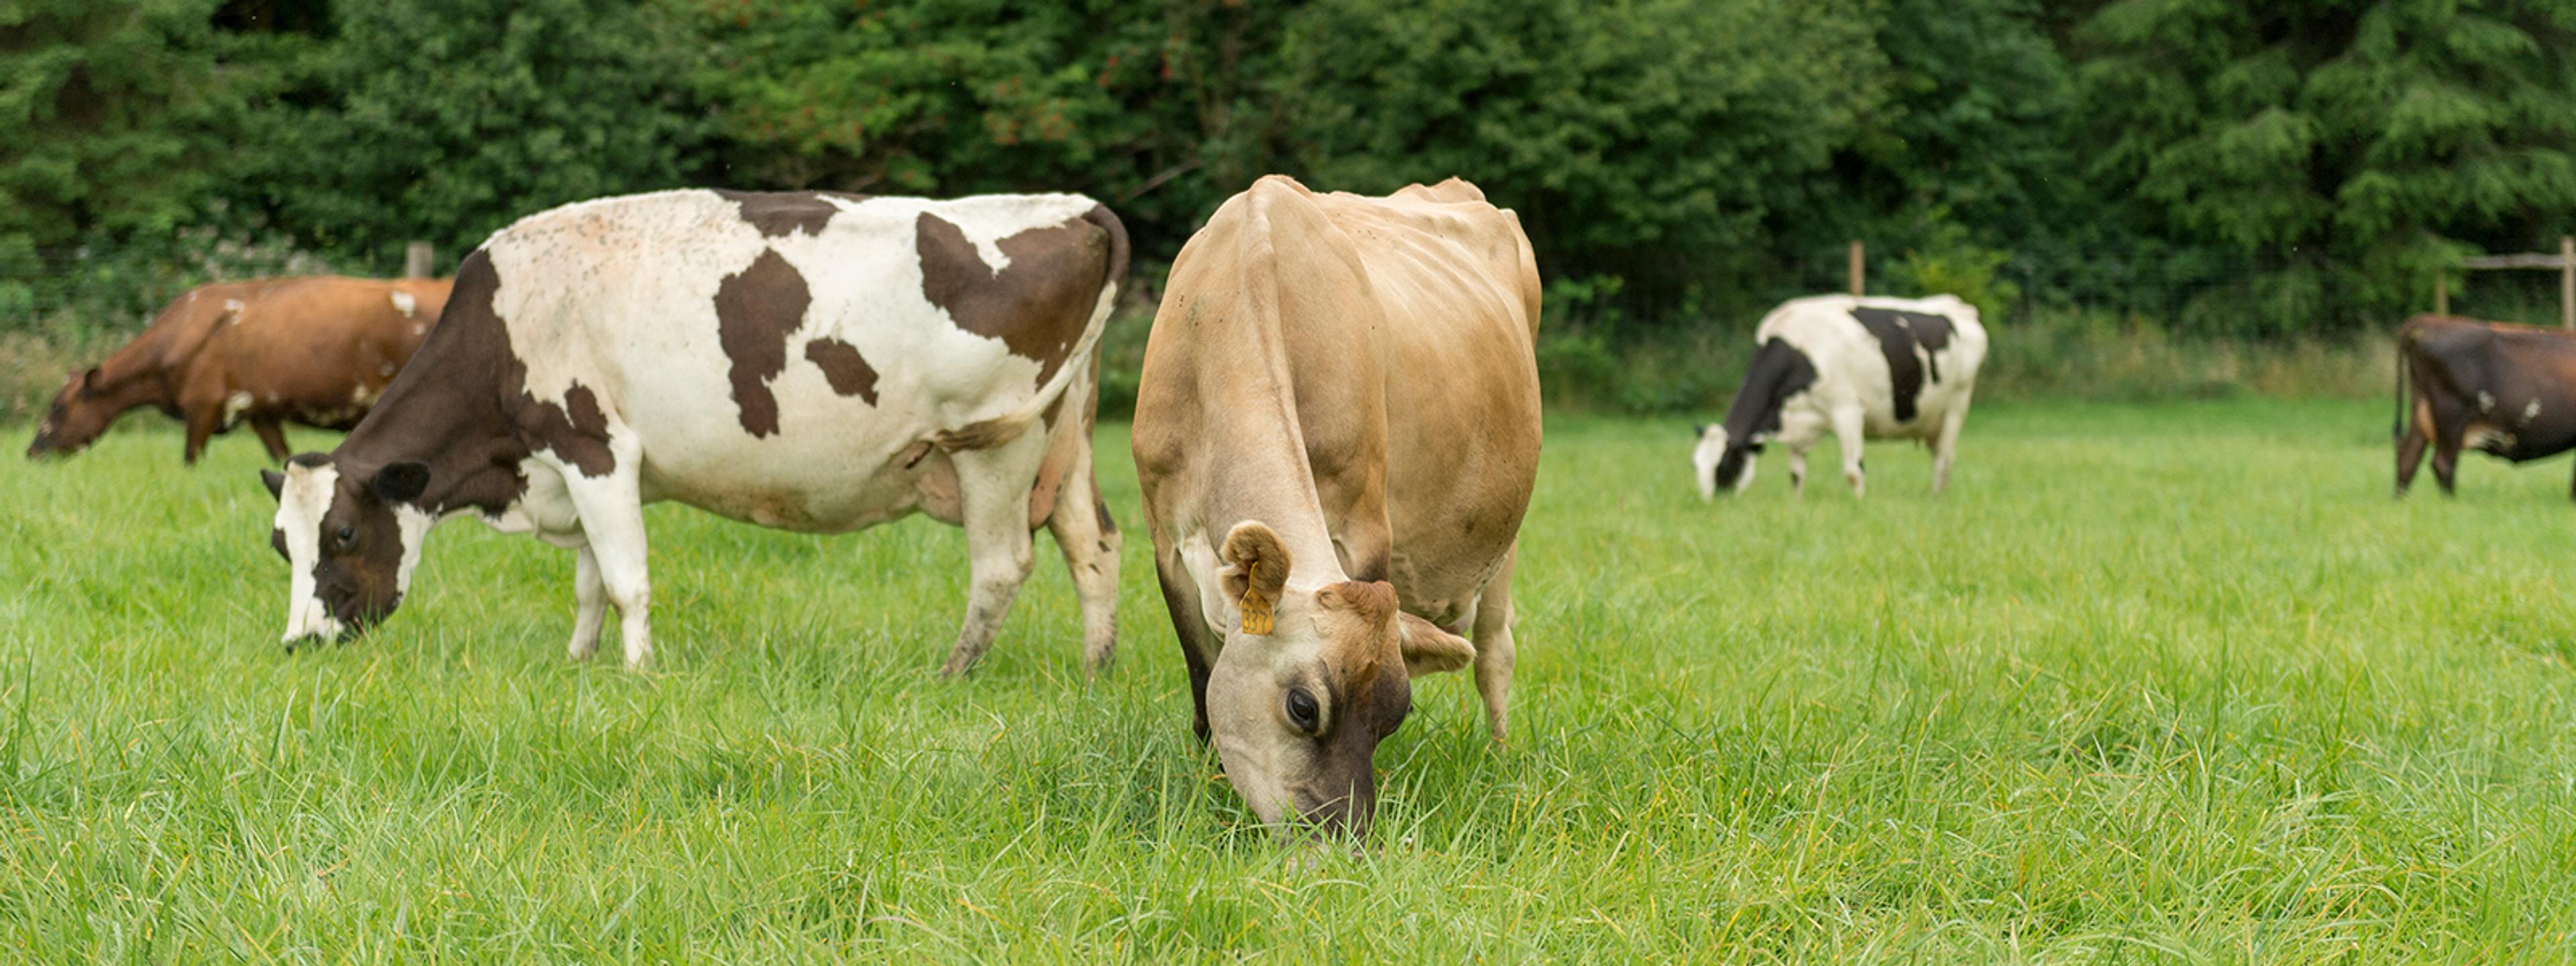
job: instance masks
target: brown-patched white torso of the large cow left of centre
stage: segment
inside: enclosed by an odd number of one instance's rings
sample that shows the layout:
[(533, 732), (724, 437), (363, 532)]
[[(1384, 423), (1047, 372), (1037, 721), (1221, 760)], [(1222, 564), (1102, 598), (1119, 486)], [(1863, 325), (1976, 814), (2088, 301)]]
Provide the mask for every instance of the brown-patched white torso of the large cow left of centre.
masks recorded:
[[(492, 291), (461, 283), (459, 304), (479, 307), (443, 325), (497, 327), (518, 404), (595, 407), (631, 433), (647, 497), (858, 528), (938, 469), (917, 443), (1064, 392), (1108, 299), (1092, 209), (1082, 196), (585, 201), (492, 234)], [(1079, 234), (1074, 255), (1038, 232)]]

